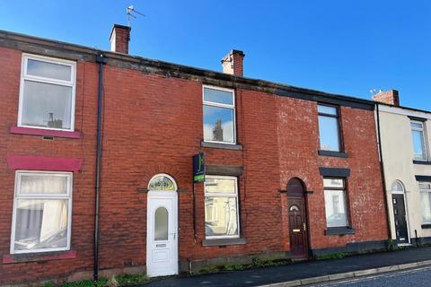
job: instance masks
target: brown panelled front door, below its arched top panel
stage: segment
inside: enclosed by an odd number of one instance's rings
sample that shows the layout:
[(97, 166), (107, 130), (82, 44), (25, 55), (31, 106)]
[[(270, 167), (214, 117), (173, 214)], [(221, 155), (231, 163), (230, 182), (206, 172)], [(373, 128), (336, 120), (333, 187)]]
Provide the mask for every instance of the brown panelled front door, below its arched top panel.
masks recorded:
[(307, 224), (303, 197), (287, 197), (290, 252), (293, 257), (308, 257)]

